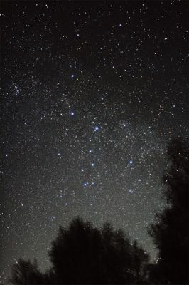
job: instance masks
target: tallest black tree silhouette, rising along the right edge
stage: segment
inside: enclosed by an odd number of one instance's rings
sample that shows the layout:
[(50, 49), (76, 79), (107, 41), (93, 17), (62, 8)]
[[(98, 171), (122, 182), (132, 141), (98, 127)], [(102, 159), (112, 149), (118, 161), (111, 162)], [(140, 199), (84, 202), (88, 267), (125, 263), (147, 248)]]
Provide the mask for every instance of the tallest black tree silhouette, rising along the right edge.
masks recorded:
[(156, 214), (148, 232), (158, 249), (151, 278), (161, 284), (188, 284), (188, 160), (187, 142), (174, 139), (168, 147), (171, 162), (163, 175), (168, 206)]

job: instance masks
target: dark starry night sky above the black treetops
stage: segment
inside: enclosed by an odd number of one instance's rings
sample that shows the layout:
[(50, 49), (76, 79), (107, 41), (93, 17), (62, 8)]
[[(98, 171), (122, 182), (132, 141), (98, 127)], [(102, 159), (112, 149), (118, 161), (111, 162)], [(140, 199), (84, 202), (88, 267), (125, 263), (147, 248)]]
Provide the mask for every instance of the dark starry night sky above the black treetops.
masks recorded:
[(166, 146), (188, 134), (187, 1), (1, 1), (1, 79), (1, 280), (50, 266), (77, 214), (154, 258)]

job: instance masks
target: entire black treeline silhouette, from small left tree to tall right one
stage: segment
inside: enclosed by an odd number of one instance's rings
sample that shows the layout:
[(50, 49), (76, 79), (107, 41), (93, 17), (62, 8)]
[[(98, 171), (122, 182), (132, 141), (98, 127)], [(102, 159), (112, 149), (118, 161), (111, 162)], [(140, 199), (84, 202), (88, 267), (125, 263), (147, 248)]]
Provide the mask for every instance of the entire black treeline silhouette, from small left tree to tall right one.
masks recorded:
[(156, 214), (148, 233), (158, 249), (158, 262), (129, 236), (109, 223), (101, 229), (72, 220), (59, 228), (49, 252), (52, 267), (42, 274), (36, 261), (12, 266), (12, 284), (188, 284), (188, 159), (182, 140), (168, 147), (170, 165), (163, 174), (167, 207)]

